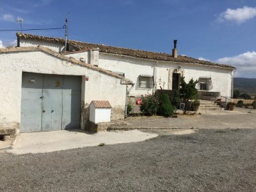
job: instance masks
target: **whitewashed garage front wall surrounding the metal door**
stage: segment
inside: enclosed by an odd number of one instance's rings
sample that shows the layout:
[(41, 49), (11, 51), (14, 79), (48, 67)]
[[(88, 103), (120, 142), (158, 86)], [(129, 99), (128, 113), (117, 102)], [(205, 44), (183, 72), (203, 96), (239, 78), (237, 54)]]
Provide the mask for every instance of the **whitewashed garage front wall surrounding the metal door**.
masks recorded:
[[(1, 51), (0, 51), (1, 52)], [(0, 53), (0, 128), (19, 129), (21, 122), (22, 72), (55, 75), (82, 75), (81, 128), (89, 118), (92, 100), (108, 100), (112, 105), (112, 119), (124, 118), (126, 85), (121, 79), (97, 70), (75, 65), (41, 51)], [(89, 81), (85, 81), (85, 75)]]

